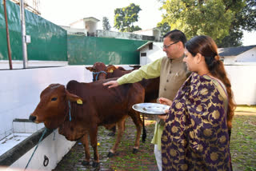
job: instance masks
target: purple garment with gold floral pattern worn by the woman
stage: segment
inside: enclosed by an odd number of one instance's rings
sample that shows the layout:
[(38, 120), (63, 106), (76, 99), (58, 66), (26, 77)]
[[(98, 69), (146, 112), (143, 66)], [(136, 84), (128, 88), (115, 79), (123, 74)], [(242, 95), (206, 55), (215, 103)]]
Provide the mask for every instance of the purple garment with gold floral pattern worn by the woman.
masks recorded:
[(162, 170), (230, 170), (225, 97), (191, 74), (178, 90), (162, 133)]

